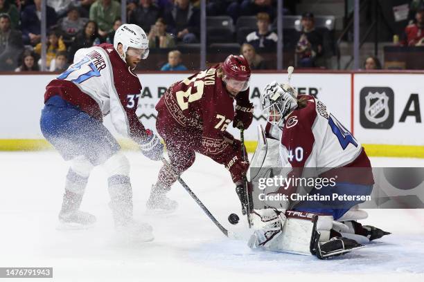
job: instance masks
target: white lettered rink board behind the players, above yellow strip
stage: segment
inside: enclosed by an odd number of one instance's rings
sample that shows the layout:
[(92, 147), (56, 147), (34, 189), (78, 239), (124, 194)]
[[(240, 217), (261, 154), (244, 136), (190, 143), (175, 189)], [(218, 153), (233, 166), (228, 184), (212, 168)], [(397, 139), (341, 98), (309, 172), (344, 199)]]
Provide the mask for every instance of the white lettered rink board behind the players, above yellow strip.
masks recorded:
[[(152, 73), (139, 74), (143, 86), (142, 99), (139, 100), (137, 113), (145, 127), (154, 129), (156, 110), (154, 106), (164, 95), (166, 88), (178, 80), (188, 77), (190, 73)], [(0, 139), (38, 139), (39, 117), (44, 102), (45, 87), (55, 75), (0, 75), (2, 95), (0, 97)], [(256, 141), (256, 127), (265, 124), (260, 111), (260, 93), (264, 86), (276, 80), (286, 82), (287, 75), (282, 73), (260, 73), (251, 77), (250, 99), (254, 103), (254, 122), (245, 132), (245, 140)], [(351, 75), (348, 73), (294, 73), (291, 84), (299, 94), (316, 95), (326, 103), (328, 109), (340, 122), (351, 127)], [(5, 122), (7, 121), (7, 122)], [(105, 117), (106, 126), (114, 133), (109, 118)], [(229, 126), (229, 131), (238, 137), (238, 131)], [(116, 133), (117, 134), (117, 133)]]

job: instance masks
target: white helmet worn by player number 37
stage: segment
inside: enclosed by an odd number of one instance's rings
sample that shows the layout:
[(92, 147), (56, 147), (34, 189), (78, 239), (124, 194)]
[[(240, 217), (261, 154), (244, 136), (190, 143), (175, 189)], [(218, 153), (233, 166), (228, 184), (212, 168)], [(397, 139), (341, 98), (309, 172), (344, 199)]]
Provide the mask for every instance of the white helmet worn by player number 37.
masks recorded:
[(143, 50), (141, 59), (149, 55), (149, 39), (145, 35), (143, 28), (136, 24), (124, 23), (115, 32), (114, 48), (118, 51), (118, 44), (122, 44), (124, 55), (122, 59), (125, 62), (125, 56), (129, 47)]

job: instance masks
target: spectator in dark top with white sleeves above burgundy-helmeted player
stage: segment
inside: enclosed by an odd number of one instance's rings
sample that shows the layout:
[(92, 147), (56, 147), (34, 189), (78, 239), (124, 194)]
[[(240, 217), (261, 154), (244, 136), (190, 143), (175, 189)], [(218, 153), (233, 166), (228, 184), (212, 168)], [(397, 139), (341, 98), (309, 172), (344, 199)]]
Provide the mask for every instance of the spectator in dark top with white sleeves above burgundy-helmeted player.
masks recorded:
[(256, 19), (258, 30), (249, 33), (246, 42), (254, 46), (256, 50), (275, 50), (278, 37), (275, 32), (270, 31), (270, 15), (260, 12)]

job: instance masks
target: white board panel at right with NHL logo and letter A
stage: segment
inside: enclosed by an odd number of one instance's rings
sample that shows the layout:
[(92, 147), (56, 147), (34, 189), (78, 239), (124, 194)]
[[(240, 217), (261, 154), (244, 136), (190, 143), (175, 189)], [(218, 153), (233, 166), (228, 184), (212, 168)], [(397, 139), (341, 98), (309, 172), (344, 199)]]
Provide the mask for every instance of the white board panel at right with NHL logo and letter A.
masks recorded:
[(355, 137), (366, 144), (424, 145), (424, 74), (354, 77)]

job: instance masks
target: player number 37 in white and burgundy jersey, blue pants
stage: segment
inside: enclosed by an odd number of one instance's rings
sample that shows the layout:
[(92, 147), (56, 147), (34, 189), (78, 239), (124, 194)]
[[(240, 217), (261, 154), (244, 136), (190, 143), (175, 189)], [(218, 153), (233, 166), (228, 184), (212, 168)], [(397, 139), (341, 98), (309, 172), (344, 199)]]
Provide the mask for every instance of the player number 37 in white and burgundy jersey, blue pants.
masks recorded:
[(150, 225), (132, 219), (130, 162), (102, 123), (103, 116), (111, 115), (116, 130), (137, 142), (145, 156), (162, 158), (164, 147), (159, 138), (136, 116), (141, 84), (134, 68), (148, 53), (143, 29), (123, 24), (116, 30), (113, 46), (78, 50), (67, 71), (46, 86), (42, 133), (71, 164), (59, 214), (62, 223), (85, 227), (96, 221), (79, 207), (90, 171), (100, 165), (107, 173), (116, 229), (143, 241), (153, 239)]

